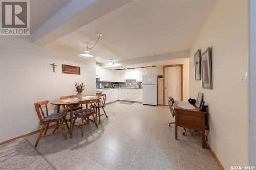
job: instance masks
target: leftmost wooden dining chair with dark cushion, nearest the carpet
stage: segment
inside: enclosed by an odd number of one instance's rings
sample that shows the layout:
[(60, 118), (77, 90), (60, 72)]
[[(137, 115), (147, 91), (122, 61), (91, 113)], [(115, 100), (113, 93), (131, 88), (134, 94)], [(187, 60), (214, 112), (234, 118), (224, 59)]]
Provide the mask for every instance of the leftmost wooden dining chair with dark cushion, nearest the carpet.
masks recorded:
[[(43, 127), (42, 127), (42, 129), (39, 133), (39, 136), (36, 140), (35, 147), (37, 147), (37, 144), (39, 143), (39, 141), (42, 137), (49, 137), (49, 136), (52, 136), (52, 135), (55, 135), (55, 134), (58, 134), (58, 133), (61, 133), (61, 132), (63, 134), (63, 137), (65, 139), (67, 139), (66, 131), (65, 131), (65, 128), (64, 128), (64, 123), (69, 128), (68, 122), (66, 120), (67, 112), (61, 112), (61, 113), (55, 113), (55, 114), (50, 114), (49, 115), (48, 114), (48, 108), (47, 108), (48, 103), (49, 103), (48, 100), (34, 103), (35, 110), (36, 110), (37, 116), (38, 116), (39, 121), (40, 121), (39, 123), (40, 123), (40, 125), (43, 125)], [(45, 107), (45, 113), (44, 113), (43, 107)], [(47, 130), (50, 129), (49, 124), (52, 123), (52, 122), (56, 122), (56, 126), (53, 127), (54, 130), (51, 134), (46, 134)], [(55, 132), (56, 129), (58, 129), (59, 123), (61, 125), (62, 131)], [(44, 133), (44, 135), (42, 135), (43, 133)]]

